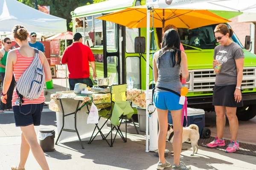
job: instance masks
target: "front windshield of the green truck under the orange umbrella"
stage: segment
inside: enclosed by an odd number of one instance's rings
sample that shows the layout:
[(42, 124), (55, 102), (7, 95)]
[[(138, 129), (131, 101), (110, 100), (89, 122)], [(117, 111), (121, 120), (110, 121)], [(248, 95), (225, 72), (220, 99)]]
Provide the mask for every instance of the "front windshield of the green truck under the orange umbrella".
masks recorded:
[[(180, 42), (184, 44), (183, 46), (185, 50), (191, 50), (195, 48), (214, 49), (216, 45), (218, 45), (214, 35), (215, 26), (217, 25), (214, 24), (195, 29), (178, 28), (180, 34)], [(235, 34), (233, 34), (232, 40), (244, 48)]]

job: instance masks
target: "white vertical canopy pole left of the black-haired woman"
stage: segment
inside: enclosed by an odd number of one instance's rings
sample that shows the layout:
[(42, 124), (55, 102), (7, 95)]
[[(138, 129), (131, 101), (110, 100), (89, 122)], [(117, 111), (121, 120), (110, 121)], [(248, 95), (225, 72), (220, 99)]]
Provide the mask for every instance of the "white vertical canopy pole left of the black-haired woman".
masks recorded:
[(146, 152), (148, 150), (148, 105), (149, 105), (149, 49), (150, 49), (150, 7), (147, 6), (147, 51), (146, 51)]

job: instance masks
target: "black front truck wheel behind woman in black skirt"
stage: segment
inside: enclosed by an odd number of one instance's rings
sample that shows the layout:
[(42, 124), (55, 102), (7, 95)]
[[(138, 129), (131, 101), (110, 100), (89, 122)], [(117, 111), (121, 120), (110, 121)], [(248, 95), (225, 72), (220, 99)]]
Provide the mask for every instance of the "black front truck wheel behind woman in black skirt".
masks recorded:
[(238, 120), (247, 121), (256, 116), (256, 105), (247, 105), (242, 108), (237, 108), (236, 116)]

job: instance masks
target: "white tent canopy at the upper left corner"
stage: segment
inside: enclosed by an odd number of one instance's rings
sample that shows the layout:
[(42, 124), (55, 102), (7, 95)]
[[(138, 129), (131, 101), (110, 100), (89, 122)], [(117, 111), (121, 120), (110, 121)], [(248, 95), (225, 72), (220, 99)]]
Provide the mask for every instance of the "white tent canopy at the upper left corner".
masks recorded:
[(66, 32), (67, 21), (31, 8), (17, 0), (0, 0), (0, 31), (20, 24), (28, 31)]

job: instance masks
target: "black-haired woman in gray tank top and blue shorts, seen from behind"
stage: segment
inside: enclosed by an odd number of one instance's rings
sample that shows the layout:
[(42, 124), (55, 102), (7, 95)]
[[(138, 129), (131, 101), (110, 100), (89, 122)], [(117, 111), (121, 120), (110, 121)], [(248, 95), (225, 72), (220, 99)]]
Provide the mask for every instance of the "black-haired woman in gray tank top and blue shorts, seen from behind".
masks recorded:
[(158, 170), (171, 167), (171, 164), (164, 158), (164, 150), (166, 147), (166, 133), (168, 129), (168, 110), (172, 113), (174, 140), (174, 170), (190, 170), (183, 162), (180, 162), (180, 153), (182, 146), (182, 125), (181, 116), (183, 105), (179, 104), (180, 97), (172, 92), (159, 89), (166, 88), (180, 93), (182, 88), (180, 82), (180, 70), (182, 70), (182, 78), (189, 76), (186, 54), (180, 51), (180, 37), (175, 29), (165, 32), (163, 37), (163, 48), (154, 54), (154, 79), (156, 81), (156, 90), (154, 93), (154, 105), (157, 108), (157, 116), (159, 121), (158, 133), (158, 152), (159, 162)]

